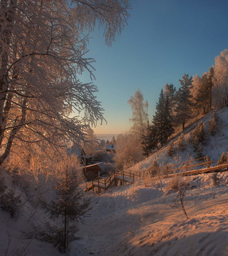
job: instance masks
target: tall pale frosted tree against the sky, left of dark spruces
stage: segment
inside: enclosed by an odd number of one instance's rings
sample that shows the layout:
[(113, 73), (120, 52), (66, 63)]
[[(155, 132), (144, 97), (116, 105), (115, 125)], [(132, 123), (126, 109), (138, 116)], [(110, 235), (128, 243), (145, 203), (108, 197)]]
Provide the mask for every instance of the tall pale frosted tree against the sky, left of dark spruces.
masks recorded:
[(130, 121), (133, 122), (133, 132), (144, 135), (146, 132), (146, 124), (148, 122), (148, 102), (144, 102), (144, 95), (138, 89), (135, 91), (134, 97), (130, 97), (128, 103), (133, 112), (133, 117), (130, 118)]

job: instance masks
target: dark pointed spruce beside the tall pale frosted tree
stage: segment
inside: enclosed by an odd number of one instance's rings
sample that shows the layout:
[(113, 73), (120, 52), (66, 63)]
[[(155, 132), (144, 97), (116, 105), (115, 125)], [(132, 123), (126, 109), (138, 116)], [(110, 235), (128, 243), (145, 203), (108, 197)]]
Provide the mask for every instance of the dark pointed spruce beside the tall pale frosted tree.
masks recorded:
[(163, 146), (165, 143), (167, 143), (168, 138), (173, 133), (173, 125), (171, 123), (170, 117), (169, 98), (165, 98), (163, 90), (160, 93), (160, 97), (156, 105), (156, 112), (154, 115), (153, 123), (157, 131), (157, 140)]

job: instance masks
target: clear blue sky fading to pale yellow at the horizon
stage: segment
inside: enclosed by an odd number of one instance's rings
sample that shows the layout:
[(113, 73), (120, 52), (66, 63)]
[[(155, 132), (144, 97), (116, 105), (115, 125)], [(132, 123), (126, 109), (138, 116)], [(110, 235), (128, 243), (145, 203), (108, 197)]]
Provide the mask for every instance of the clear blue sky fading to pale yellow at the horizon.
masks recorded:
[[(202, 75), (228, 48), (227, 0), (130, 0), (128, 26), (111, 47), (95, 31), (87, 56), (93, 57), (96, 94), (108, 124), (95, 133), (121, 133), (131, 124), (127, 100), (140, 89), (152, 121), (165, 83), (178, 87), (184, 73)], [(84, 74), (82, 80), (89, 81)]]

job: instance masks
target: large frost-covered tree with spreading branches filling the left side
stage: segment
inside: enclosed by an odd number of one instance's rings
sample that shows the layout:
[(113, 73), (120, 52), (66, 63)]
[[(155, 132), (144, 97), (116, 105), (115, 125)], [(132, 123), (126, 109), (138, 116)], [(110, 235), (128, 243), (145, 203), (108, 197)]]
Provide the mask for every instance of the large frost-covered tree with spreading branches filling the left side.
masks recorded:
[(127, 0), (1, 0), (0, 165), (18, 141), (79, 144), (103, 121), (97, 87), (79, 75), (93, 78), (93, 59), (86, 57), (90, 31), (98, 24), (111, 45), (127, 9)]

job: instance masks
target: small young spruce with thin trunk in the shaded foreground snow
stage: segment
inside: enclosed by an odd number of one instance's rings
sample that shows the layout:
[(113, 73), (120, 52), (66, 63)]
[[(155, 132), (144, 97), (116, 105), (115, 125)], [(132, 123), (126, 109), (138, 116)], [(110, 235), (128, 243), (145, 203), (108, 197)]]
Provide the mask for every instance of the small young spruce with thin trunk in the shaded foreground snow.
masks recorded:
[(76, 222), (83, 222), (85, 214), (90, 210), (90, 200), (84, 200), (83, 191), (77, 189), (76, 175), (68, 171), (68, 166), (66, 166), (66, 173), (59, 178), (55, 190), (58, 199), (50, 204), (44, 203), (44, 208), (50, 219), (60, 221), (63, 244), (60, 244), (58, 249), (66, 252), (74, 234)]

